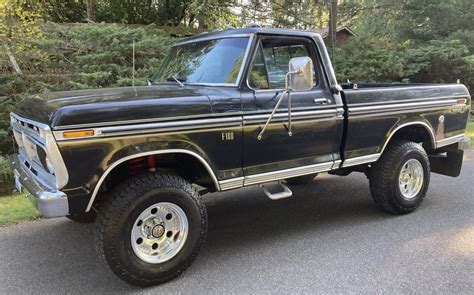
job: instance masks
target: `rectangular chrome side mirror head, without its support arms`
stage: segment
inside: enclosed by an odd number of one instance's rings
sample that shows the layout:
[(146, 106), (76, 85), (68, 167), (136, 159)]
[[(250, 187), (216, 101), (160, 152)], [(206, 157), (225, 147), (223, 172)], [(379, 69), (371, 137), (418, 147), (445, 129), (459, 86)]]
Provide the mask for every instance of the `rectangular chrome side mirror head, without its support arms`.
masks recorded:
[(306, 91), (313, 88), (313, 60), (311, 58), (294, 57), (290, 59), (288, 68), (287, 90)]

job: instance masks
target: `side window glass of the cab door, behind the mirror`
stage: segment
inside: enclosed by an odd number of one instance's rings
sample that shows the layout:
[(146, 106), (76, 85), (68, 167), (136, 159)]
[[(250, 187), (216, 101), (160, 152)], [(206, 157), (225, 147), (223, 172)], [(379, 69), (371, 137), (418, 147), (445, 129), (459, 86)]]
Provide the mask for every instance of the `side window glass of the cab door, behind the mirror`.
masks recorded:
[[(303, 39), (262, 38), (249, 75), (249, 86), (254, 89), (285, 88), (288, 63), (294, 57), (309, 56), (313, 58), (316, 69), (317, 63), (311, 54), (311, 46), (309, 41)], [(314, 73), (314, 85), (317, 84), (317, 81), (316, 73)]]

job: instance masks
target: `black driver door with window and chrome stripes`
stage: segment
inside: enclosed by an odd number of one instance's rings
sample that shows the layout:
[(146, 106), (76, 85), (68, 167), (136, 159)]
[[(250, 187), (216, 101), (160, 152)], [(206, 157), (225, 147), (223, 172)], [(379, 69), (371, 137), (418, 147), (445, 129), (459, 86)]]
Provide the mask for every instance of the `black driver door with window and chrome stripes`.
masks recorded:
[[(292, 136), (288, 97), (257, 138), (285, 89), (291, 58), (308, 56), (314, 65), (314, 85), (291, 92)], [(261, 36), (242, 93), (244, 112), (243, 168), (246, 185), (327, 171), (339, 160), (342, 117), (327, 87), (312, 39)]]

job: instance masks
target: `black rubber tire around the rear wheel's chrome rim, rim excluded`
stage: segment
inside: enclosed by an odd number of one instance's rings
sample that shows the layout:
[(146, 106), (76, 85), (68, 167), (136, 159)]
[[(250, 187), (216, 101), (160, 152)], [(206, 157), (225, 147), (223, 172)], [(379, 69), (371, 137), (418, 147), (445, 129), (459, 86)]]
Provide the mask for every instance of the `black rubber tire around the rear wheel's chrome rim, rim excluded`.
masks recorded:
[[(420, 191), (412, 198), (403, 196), (399, 177), (402, 167), (410, 159), (417, 160), (423, 168), (423, 182)], [(375, 203), (392, 214), (413, 212), (423, 202), (430, 183), (430, 162), (420, 144), (396, 140), (390, 143), (380, 159), (370, 169), (370, 192)]]

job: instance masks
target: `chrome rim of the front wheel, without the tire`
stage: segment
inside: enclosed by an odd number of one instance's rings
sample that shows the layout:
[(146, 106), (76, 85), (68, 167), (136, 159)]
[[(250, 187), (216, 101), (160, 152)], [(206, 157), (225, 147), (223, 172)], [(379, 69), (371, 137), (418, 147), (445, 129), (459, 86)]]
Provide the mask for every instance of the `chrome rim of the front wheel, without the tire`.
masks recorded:
[(135, 220), (131, 232), (132, 249), (145, 262), (163, 263), (183, 248), (188, 231), (188, 218), (183, 209), (173, 203), (157, 203)]

